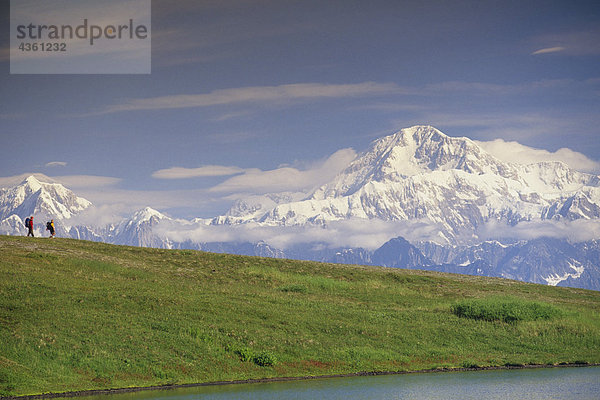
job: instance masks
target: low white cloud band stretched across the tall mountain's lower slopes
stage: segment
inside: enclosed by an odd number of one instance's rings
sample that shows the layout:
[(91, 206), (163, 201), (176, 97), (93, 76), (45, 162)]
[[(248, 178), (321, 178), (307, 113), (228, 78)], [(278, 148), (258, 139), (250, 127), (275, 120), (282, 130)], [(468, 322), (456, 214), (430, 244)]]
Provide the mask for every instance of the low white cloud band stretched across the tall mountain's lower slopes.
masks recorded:
[[(323, 225), (265, 226), (258, 223), (240, 225), (207, 225), (182, 220), (162, 220), (154, 234), (174, 242), (202, 243), (259, 243), (280, 250), (299, 245), (319, 245), (330, 249), (364, 248), (376, 250), (390, 239), (403, 237), (411, 243), (431, 241), (446, 245), (440, 237), (440, 227), (430, 220), (383, 221), (379, 219), (350, 219)], [(479, 227), (476, 235), (464, 234), (465, 243), (486, 240), (503, 243), (538, 238), (564, 239), (572, 243), (600, 237), (598, 220), (540, 220), (509, 225), (504, 221), (489, 221)]]

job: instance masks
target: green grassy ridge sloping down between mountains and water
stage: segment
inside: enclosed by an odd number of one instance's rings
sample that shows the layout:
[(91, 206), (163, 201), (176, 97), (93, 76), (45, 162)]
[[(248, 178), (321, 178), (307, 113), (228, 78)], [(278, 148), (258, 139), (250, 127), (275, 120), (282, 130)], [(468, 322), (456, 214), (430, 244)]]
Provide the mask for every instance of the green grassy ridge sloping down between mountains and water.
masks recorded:
[(0, 396), (599, 363), (599, 311), (581, 289), (0, 236)]

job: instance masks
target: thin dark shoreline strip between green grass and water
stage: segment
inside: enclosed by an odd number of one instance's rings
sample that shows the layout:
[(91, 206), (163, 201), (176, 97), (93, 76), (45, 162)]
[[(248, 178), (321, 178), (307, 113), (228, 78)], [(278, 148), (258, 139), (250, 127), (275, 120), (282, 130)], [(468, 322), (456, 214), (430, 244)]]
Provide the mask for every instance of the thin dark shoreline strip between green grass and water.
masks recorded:
[(305, 381), (312, 379), (332, 379), (332, 378), (352, 378), (359, 376), (383, 376), (383, 375), (408, 375), (408, 374), (425, 374), (436, 372), (467, 372), (467, 371), (495, 371), (495, 370), (511, 370), (511, 369), (538, 369), (538, 368), (583, 368), (583, 367), (598, 367), (600, 363), (560, 363), (560, 364), (527, 364), (527, 365), (502, 365), (489, 367), (473, 367), (473, 368), (433, 368), (416, 371), (373, 371), (373, 372), (354, 372), (349, 374), (332, 374), (332, 375), (307, 375), (298, 377), (274, 377), (274, 378), (256, 378), (242, 379), (233, 381), (216, 381), (204, 383), (184, 383), (184, 384), (167, 384), (156, 386), (138, 386), (127, 388), (110, 388), (110, 389), (91, 389), (91, 390), (76, 390), (60, 393), (42, 393), (23, 396), (5, 396), (0, 397), (0, 400), (37, 400), (37, 399), (56, 399), (61, 397), (84, 397), (93, 395), (110, 395), (121, 393), (135, 393), (152, 390), (173, 390), (194, 388), (203, 386), (225, 386), (225, 385), (242, 385), (252, 383), (270, 383), (270, 382), (291, 382)]

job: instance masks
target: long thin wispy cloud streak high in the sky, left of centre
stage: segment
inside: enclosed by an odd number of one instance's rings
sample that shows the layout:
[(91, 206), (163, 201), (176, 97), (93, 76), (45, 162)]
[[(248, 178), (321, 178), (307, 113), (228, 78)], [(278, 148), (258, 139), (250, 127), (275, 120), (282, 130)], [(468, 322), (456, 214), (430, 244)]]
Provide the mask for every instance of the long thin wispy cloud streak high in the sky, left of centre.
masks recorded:
[(280, 86), (254, 86), (219, 89), (201, 94), (133, 99), (107, 107), (99, 114), (124, 111), (198, 108), (242, 103), (272, 103), (291, 100), (333, 99), (397, 93), (395, 83), (363, 82), (351, 84), (296, 83)]

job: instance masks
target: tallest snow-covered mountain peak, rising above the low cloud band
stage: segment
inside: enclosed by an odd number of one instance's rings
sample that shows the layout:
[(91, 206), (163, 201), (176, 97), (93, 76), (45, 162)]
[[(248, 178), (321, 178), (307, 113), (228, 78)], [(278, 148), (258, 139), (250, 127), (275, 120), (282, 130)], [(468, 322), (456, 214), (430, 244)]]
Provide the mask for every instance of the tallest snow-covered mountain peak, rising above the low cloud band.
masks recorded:
[(247, 212), (238, 207), (213, 223), (426, 219), (439, 226), (432, 239), (456, 244), (476, 240), (488, 221), (599, 217), (596, 175), (560, 162), (505, 163), (468, 138), (415, 126), (374, 141), (333, 181), (300, 201), (254, 204)]

